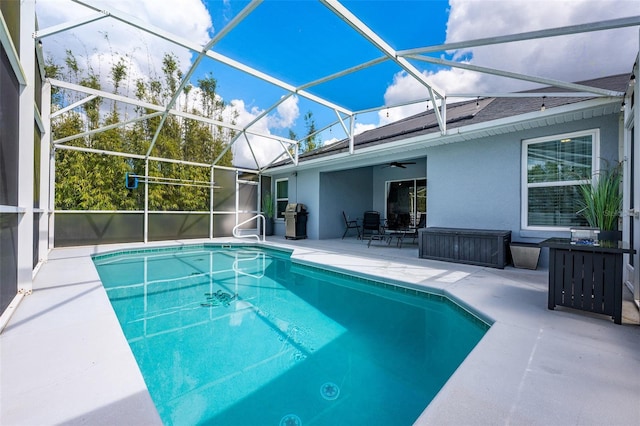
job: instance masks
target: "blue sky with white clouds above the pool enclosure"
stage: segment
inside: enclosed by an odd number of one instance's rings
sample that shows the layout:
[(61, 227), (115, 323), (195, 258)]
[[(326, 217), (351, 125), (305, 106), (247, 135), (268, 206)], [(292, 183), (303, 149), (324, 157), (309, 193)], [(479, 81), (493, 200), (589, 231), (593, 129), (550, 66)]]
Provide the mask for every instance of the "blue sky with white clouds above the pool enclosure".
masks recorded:
[[(123, 12), (196, 45), (206, 44), (248, 4), (247, 1), (236, 0), (82, 2)], [(583, 24), (638, 15), (640, 12), (635, 0), (345, 0), (342, 4), (395, 50)], [(36, 10), (41, 28), (93, 13), (70, 0), (37, 0)], [(114, 58), (127, 58), (131, 64), (128, 76), (130, 91), (135, 79), (161, 72), (164, 53), (175, 54), (185, 71), (195, 57), (188, 49), (149, 37), (112, 19), (76, 27), (45, 38), (43, 43), (45, 54), (58, 62), (63, 61), (66, 49), (73, 50), (82, 58), (81, 64), (99, 70), (105, 88), (110, 85), (109, 67)], [(213, 50), (293, 86), (304, 85), (383, 56), (380, 50), (338, 19), (325, 5), (314, 0), (265, 0)], [(629, 72), (637, 51), (636, 27), (437, 52), (432, 56), (579, 81)], [(459, 68), (434, 67), (421, 61), (411, 63), (430, 83), (447, 94), (472, 92), (481, 95), (531, 87), (531, 84), (516, 80)], [(242, 124), (250, 122), (287, 94), (280, 87), (210, 59), (201, 63), (192, 82), (205, 75), (217, 79), (218, 94), (239, 113)], [(392, 61), (310, 87), (308, 92), (351, 111), (398, 105), (427, 95), (423, 86)], [(356, 129), (363, 131), (386, 124), (424, 108), (424, 104), (407, 105), (360, 114)], [(263, 134), (282, 136), (287, 136), (292, 129), (302, 136), (305, 133), (303, 116), (309, 111), (313, 113), (317, 127), (336, 121), (336, 114), (331, 109), (295, 96), (255, 128)], [(344, 132), (339, 126), (321, 135), (325, 142), (342, 137)], [(271, 148), (266, 142), (262, 147), (266, 159)], [(239, 146), (236, 156), (247, 156), (246, 149)]]

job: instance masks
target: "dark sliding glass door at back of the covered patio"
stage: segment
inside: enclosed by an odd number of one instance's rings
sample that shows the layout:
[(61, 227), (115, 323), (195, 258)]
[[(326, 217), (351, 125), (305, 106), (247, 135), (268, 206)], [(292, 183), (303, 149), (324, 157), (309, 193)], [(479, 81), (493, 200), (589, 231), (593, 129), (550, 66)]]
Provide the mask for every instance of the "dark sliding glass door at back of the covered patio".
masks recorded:
[(427, 214), (427, 180), (406, 179), (386, 183), (387, 224), (391, 228), (416, 226)]

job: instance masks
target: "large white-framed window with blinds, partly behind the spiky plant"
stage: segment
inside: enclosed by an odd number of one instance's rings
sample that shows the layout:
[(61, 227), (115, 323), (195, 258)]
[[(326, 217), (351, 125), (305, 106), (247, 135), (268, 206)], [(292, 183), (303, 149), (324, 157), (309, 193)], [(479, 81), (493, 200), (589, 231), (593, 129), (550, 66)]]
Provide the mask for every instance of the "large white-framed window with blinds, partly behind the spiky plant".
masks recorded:
[(599, 131), (523, 141), (522, 228), (567, 230), (584, 226), (579, 186), (597, 172)]

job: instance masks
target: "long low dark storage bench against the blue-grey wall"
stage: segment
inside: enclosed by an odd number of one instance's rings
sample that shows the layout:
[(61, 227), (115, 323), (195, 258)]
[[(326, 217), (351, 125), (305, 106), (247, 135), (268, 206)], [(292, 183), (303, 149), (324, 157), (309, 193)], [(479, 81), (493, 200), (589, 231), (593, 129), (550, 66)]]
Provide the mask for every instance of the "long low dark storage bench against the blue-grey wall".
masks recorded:
[(425, 228), (418, 231), (423, 259), (469, 263), (503, 269), (508, 264), (511, 231)]

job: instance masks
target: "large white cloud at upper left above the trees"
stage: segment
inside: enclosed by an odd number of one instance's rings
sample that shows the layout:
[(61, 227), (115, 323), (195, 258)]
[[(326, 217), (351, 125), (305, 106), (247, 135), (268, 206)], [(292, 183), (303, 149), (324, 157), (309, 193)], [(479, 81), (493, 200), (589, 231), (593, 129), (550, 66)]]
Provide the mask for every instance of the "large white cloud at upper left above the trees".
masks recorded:
[[(182, 0), (180, 7), (173, 2), (155, 0), (90, 3), (107, 11), (123, 12), (196, 44), (205, 44), (213, 30), (211, 17), (200, 0)], [(38, 2), (36, 12), (41, 29), (95, 13), (63, 0)], [(59, 62), (65, 57), (66, 50), (74, 52), (79, 65), (83, 69), (91, 67), (106, 88), (111, 87), (109, 73), (112, 63), (120, 57), (130, 62), (130, 82), (139, 77), (161, 75), (165, 53), (176, 55), (183, 72), (188, 69), (192, 58), (192, 52), (187, 49), (110, 18), (45, 37), (43, 44), (46, 54)]]

